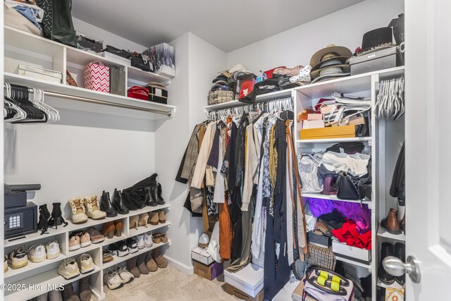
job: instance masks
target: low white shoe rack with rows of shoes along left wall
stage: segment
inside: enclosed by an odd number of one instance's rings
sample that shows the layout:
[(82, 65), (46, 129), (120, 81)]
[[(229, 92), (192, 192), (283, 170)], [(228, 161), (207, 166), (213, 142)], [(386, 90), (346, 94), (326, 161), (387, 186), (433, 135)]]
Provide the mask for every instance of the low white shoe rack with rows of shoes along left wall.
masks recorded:
[[(74, 224), (71, 223), (70, 220), (66, 220), (68, 221), (68, 226), (63, 227), (63, 225), (61, 225), (57, 228), (49, 228), (49, 234), (40, 235), (39, 231), (37, 233), (26, 235), (25, 238), (20, 238), (19, 240), (4, 240), (5, 254), (8, 254), (13, 249), (23, 245), (28, 248), (38, 243), (45, 245), (47, 242), (52, 242), (54, 240), (59, 242), (61, 251), (61, 254), (55, 259), (46, 259), (39, 263), (34, 263), (28, 260), (27, 266), (20, 269), (11, 269), (11, 267), (8, 266), (8, 271), (4, 274), (4, 283), (6, 285), (15, 285), (17, 289), (5, 291), (4, 300), (29, 300), (51, 290), (52, 285), (56, 285), (57, 287), (60, 284), (75, 282), (80, 280), (80, 278), (87, 276), (89, 276), (89, 285), (92, 293), (96, 295), (99, 300), (104, 299), (104, 273), (106, 273), (111, 266), (115, 266), (116, 264), (125, 264), (127, 259), (145, 252), (149, 252), (157, 247), (171, 245), (171, 240), (168, 240), (168, 242), (161, 242), (159, 244), (154, 243), (152, 247), (144, 247), (144, 249), (128, 254), (125, 257), (118, 257), (115, 255), (113, 256), (113, 261), (105, 264), (102, 262), (102, 249), (108, 248), (108, 246), (114, 242), (132, 238), (136, 235), (144, 234), (147, 231), (152, 231), (153, 233), (166, 232), (168, 227), (171, 226), (171, 222), (168, 220), (166, 220), (166, 223), (159, 223), (155, 226), (148, 223), (147, 228), (144, 226), (139, 226), (137, 229), (130, 229), (130, 217), (159, 210), (163, 210), (165, 211), (165, 214), (167, 214), (170, 209), (171, 205), (163, 204), (156, 207), (144, 207), (143, 209), (130, 211), (129, 214), (118, 214), (118, 216), (107, 217), (101, 220), (89, 219), (86, 223), (80, 224)], [(105, 237), (103, 242), (99, 242), (97, 244), (92, 243), (87, 247), (80, 247), (78, 250), (69, 251), (68, 243), (70, 233), (74, 231), (87, 230), (87, 228), (97, 228), (100, 231), (104, 223), (117, 220), (122, 220), (123, 222), (121, 236), (113, 236), (111, 239)], [(87, 274), (80, 274), (80, 276), (72, 279), (66, 279), (58, 274), (57, 269), (60, 262), (67, 258), (77, 259), (83, 253), (91, 255), (95, 265), (93, 271), (90, 271)]]

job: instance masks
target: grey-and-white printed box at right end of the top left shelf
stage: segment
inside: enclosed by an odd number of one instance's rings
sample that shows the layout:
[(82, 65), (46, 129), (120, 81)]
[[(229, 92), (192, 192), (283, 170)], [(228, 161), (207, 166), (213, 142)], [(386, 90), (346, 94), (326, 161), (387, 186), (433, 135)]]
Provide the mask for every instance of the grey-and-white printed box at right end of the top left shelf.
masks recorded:
[(169, 44), (161, 43), (149, 47), (142, 53), (149, 56), (154, 73), (166, 75), (170, 78), (175, 77), (175, 51)]

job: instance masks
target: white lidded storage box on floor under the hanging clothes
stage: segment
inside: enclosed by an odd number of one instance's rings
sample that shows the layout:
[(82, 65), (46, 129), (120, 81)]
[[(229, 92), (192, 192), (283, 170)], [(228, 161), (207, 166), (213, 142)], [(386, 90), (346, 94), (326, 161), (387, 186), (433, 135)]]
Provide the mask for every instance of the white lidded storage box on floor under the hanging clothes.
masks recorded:
[(224, 282), (241, 290), (251, 297), (259, 295), (263, 290), (263, 269), (254, 264), (247, 264), (241, 271), (230, 273), (224, 270)]

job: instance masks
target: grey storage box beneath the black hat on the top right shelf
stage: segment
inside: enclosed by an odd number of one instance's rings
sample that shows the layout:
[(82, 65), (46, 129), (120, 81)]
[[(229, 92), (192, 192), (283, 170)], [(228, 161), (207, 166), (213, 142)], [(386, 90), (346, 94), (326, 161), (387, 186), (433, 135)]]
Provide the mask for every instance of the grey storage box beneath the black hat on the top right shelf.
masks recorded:
[(402, 62), (402, 56), (397, 47), (393, 46), (369, 54), (363, 54), (362, 56), (351, 56), (350, 65), (351, 75), (356, 75), (402, 66), (404, 63)]

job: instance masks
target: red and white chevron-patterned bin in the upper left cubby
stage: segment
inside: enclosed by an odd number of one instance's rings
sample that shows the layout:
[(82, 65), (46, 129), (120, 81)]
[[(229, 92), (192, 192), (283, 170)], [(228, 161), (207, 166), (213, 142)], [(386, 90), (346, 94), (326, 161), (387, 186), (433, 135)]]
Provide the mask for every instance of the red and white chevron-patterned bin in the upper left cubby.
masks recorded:
[(83, 71), (86, 89), (110, 92), (110, 68), (99, 61), (93, 61), (87, 64)]

